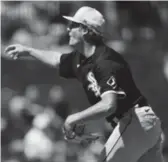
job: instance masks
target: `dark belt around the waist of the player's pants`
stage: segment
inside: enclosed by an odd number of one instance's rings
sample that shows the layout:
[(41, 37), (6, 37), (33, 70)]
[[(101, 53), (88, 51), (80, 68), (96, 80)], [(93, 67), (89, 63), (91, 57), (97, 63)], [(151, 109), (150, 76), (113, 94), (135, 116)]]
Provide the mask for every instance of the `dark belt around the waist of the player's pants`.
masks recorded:
[(128, 109), (128, 111), (124, 112), (122, 115), (118, 115), (118, 116), (113, 117), (112, 121), (110, 121), (112, 127), (114, 128), (114, 127), (117, 125), (117, 123), (118, 123), (124, 116), (126, 116), (126, 115), (129, 113), (129, 110), (131, 110), (131, 109), (134, 108), (134, 107), (141, 108), (141, 107), (143, 107), (143, 106), (149, 106), (149, 104), (147, 103), (147, 100), (146, 100), (145, 97), (140, 96), (140, 97), (138, 97), (137, 100), (135, 100), (135, 101), (133, 102), (131, 108)]

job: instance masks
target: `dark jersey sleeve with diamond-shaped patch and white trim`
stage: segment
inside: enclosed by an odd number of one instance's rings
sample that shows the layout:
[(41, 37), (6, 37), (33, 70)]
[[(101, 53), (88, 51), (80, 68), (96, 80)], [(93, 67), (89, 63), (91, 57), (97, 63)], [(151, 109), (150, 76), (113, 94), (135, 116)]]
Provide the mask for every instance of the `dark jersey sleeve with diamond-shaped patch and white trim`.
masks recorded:
[(121, 71), (123, 66), (110, 60), (104, 61), (96, 68), (96, 79), (100, 87), (100, 95), (113, 92), (119, 98), (124, 98), (126, 93), (120, 87)]

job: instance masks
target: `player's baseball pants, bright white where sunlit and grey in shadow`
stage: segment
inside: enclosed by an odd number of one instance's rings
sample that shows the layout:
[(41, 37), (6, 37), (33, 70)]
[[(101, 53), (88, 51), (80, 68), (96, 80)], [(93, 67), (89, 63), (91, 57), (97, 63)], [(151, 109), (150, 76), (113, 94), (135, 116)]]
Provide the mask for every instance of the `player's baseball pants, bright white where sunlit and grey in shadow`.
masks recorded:
[(151, 107), (135, 107), (113, 130), (100, 162), (162, 162), (161, 132), (161, 122)]

